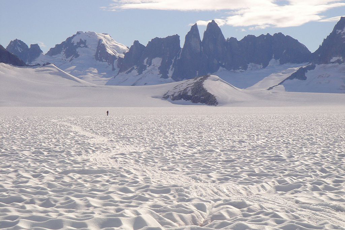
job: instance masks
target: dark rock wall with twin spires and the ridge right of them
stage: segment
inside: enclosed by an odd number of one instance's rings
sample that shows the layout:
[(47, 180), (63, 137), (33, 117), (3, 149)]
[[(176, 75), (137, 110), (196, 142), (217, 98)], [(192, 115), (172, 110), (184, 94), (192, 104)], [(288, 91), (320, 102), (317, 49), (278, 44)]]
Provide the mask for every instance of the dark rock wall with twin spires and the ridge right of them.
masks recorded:
[(196, 25), (187, 34), (181, 55), (176, 60), (173, 79), (190, 79), (214, 73), (219, 67), (246, 70), (250, 63), (265, 68), (272, 59), (279, 60), (280, 64), (307, 63), (310, 62), (311, 52), (298, 40), (282, 33), (258, 37), (248, 35), (240, 41), (234, 37), (225, 39), (218, 25), (212, 21), (207, 25), (202, 42)]

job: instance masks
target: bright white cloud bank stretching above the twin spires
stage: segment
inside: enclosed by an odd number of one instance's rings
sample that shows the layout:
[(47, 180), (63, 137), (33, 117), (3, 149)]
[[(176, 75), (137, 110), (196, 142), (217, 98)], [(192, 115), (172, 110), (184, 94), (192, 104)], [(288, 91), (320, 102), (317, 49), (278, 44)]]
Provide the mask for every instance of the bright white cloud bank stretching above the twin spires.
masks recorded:
[[(337, 21), (340, 17), (324, 19), (325, 11), (345, 6), (345, 0), (113, 0), (107, 10), (156, 9), (179, 11), (229, 11), (230, 16), (214, 19), (219, 26), (294, 27), (312, 21)], [(209, 21), (197, 21), (207, 25)]]

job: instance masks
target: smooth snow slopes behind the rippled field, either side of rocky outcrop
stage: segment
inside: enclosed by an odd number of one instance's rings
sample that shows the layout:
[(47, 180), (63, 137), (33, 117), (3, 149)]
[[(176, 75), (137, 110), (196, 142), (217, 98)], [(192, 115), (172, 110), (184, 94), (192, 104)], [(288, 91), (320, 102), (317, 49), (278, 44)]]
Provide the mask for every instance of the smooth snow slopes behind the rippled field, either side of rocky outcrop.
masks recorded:
[[(0, 106), (160, 107), (176, 106), (162, 99), (177, 85), (100, 86), (85, 82), (56, 66), (15, 67), (0, 64)], [(217, 76), (204, 82), (223, 106), (344, 105), (345, 94), (312, 94), (242, 90)], [(174, 103), (185, 104), (186, 101)]]

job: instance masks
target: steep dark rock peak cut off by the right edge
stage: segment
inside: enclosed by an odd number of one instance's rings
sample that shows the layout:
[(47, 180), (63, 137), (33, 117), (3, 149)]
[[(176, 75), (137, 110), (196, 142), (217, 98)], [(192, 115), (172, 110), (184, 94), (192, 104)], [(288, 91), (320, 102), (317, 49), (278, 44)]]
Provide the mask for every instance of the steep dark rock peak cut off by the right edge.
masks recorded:
[(312, 60), (316, 64), (331, 63), (332, 58), (342, 57), (345, 61), (345, 17), (341, 17), (340, 21), (334, 27), (322, 45), (312, 54)]

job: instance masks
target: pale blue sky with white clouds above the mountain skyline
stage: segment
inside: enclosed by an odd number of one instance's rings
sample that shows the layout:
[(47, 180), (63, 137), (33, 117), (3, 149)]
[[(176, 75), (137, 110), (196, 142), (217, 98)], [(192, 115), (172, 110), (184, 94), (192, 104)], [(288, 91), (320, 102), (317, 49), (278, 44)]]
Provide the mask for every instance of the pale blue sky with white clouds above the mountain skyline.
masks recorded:
[(201, 37), (215, 20), (224, 36), (284, 33), (311, 52), (345, 16), (345, 0), (0, 0), (0, 44), (20, 39), (46, 53), (77, 31), (108, 33), (130, 47), (180, 35), (191, 25)]

